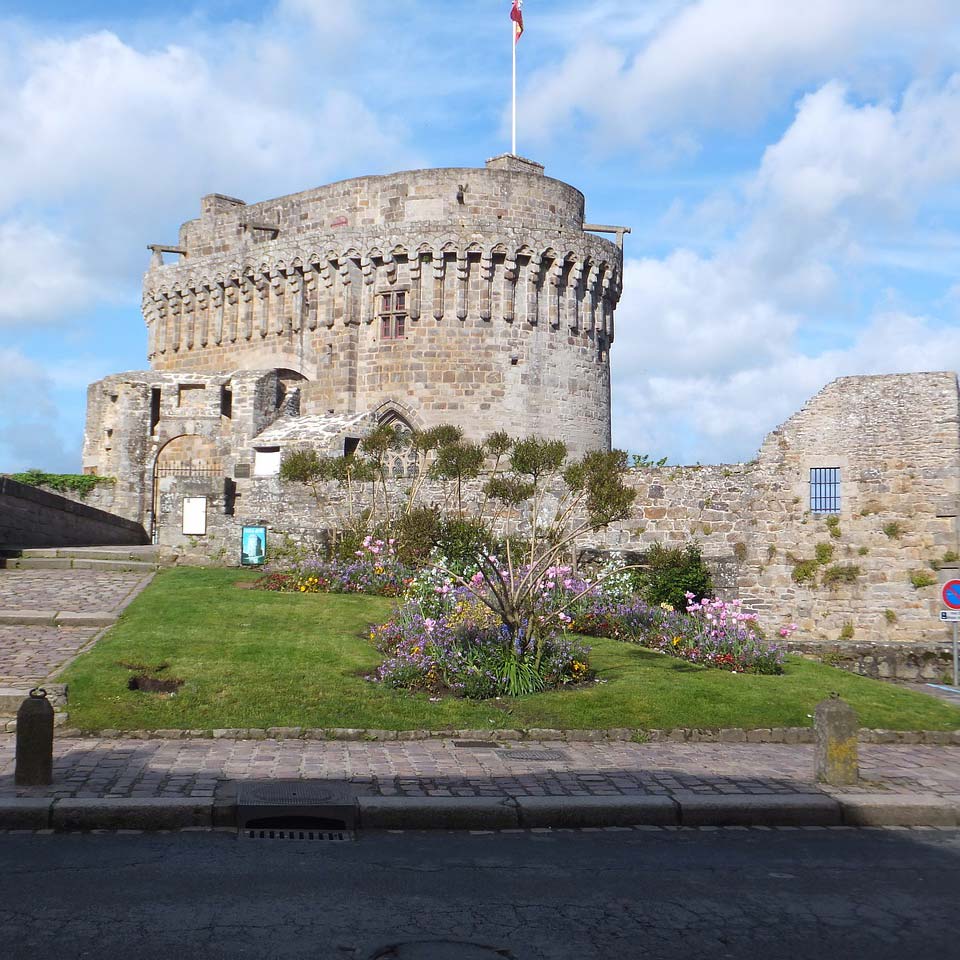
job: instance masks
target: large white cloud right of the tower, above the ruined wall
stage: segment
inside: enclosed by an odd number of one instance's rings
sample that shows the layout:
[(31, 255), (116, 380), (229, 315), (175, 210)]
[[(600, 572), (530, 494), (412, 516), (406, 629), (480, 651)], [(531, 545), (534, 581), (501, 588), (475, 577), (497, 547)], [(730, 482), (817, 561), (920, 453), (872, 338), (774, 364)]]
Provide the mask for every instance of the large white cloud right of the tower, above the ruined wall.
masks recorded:
[[(864, 265), (885, 258), (955, 276), (960, 240), (941, 218), (956, 213), (958, 130), (958, 77), (915, 84), (899, 104), (856, 104), (836, 83), (805, 97), (739, 201), (691, 214), (715, 212), (723, 239), (627, 262), (617, 442), (681, 460), (748, 458), (835, 377), (960, 367), (951, 324), (919, 316), (895, 288), (876, 290), (866, 317), (851, 295)], [(891, 250), (905, 239), (909, 249)], [(941, 303), (953, 314), (949, 289)]]

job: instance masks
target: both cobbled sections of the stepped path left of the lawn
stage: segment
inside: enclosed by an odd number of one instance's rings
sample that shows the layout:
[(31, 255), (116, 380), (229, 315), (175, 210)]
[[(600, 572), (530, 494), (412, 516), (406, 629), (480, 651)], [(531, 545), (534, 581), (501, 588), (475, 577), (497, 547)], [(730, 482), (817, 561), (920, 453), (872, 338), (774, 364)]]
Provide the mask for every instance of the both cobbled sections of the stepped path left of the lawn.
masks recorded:
[[(0, 610), (116, 616), (151, 575), (100, 570), (2, 570)], [(0, 686), (48, 679), (99, 632), (98, 627), (0, 625)]]

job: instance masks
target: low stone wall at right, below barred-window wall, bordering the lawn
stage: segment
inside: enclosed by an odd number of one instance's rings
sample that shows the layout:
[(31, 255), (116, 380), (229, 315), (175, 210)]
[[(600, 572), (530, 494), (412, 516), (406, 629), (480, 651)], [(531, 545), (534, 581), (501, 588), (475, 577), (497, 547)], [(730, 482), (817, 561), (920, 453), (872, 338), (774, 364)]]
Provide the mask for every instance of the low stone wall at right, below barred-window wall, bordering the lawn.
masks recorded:
[(791, 653), (815, 657), (850, 673), (875, 680), (925, 680), (942, 683), (953, 678), (953, 649), (943, 643), (816, 643), (790, 641)]

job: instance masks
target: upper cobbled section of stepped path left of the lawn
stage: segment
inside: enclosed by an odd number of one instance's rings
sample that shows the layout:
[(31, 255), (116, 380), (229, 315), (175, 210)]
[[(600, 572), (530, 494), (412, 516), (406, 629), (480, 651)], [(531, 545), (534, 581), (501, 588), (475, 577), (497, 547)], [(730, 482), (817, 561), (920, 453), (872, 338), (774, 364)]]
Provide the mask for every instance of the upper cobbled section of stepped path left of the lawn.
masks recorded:
[(3, 570), (0, 610), (116, 613), (149, 580), (142, 573), (106, 570)]

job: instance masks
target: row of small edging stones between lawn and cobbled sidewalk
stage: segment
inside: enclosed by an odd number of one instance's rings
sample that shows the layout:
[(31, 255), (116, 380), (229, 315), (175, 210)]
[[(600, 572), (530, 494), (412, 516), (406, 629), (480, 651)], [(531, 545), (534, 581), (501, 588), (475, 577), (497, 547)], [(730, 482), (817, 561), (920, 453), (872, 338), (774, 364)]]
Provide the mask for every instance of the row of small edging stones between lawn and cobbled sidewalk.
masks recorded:
[[(693, 728), (672, 730), (358, 730), (349, 727), (268, 727), (217, 730), (78, 730), (64, 728), (64, 738), (102, 737), (107, 740), (484, 740), (509, 744), (533, 740), (538, 743), (814, 743), (812, 727)], [(960, 730), (861, 730), (861, 743), (960, 746)]]

